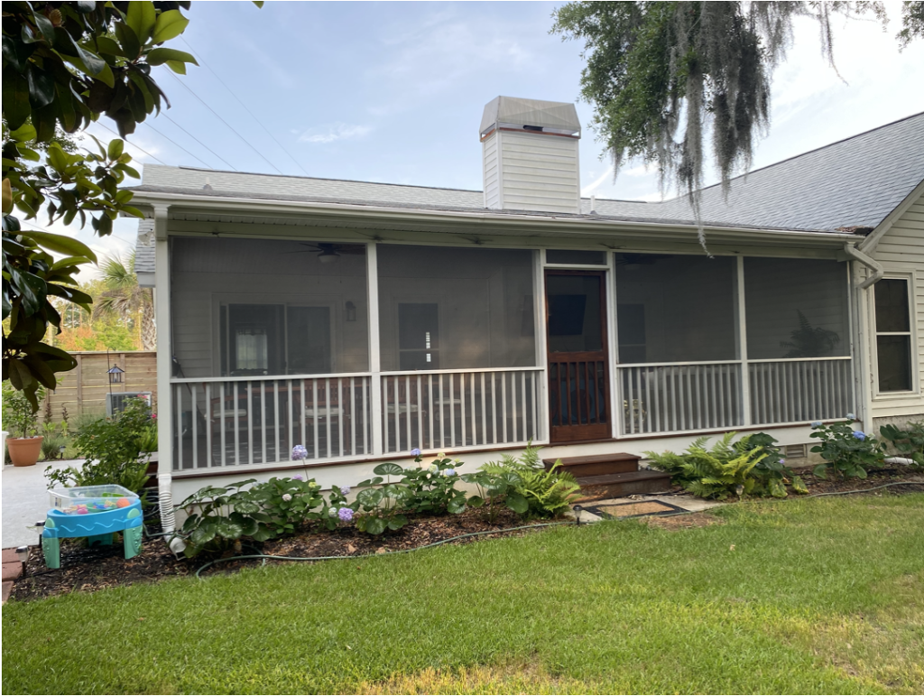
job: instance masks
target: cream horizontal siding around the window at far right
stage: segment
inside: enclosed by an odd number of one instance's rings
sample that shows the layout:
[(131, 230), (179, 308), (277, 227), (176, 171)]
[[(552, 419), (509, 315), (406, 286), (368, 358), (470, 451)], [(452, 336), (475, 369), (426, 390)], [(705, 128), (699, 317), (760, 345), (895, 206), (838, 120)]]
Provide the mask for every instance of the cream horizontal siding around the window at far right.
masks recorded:
[[(924, 397), (921, 397), (920, 385), (924, 384), (924, 196), (912, 203), (903, 214), (885, 233), (879, 246), (876, 248), (875, 258), (885, 269), (886, 276), (910, 275), (914, 289), (915, 307), (912, 310), (912, 330), (917, 327), (917, 359), (918, 359), (918, 391), (911, 395), (902, 396), (876, 396), (876, 385), (873, 386), (872, 415), (875, 418), (887, 416), (921, 416), (924, 414)], [(873, 365), (876, 360), (875, 313), (869, 307), (870, 350)]]

